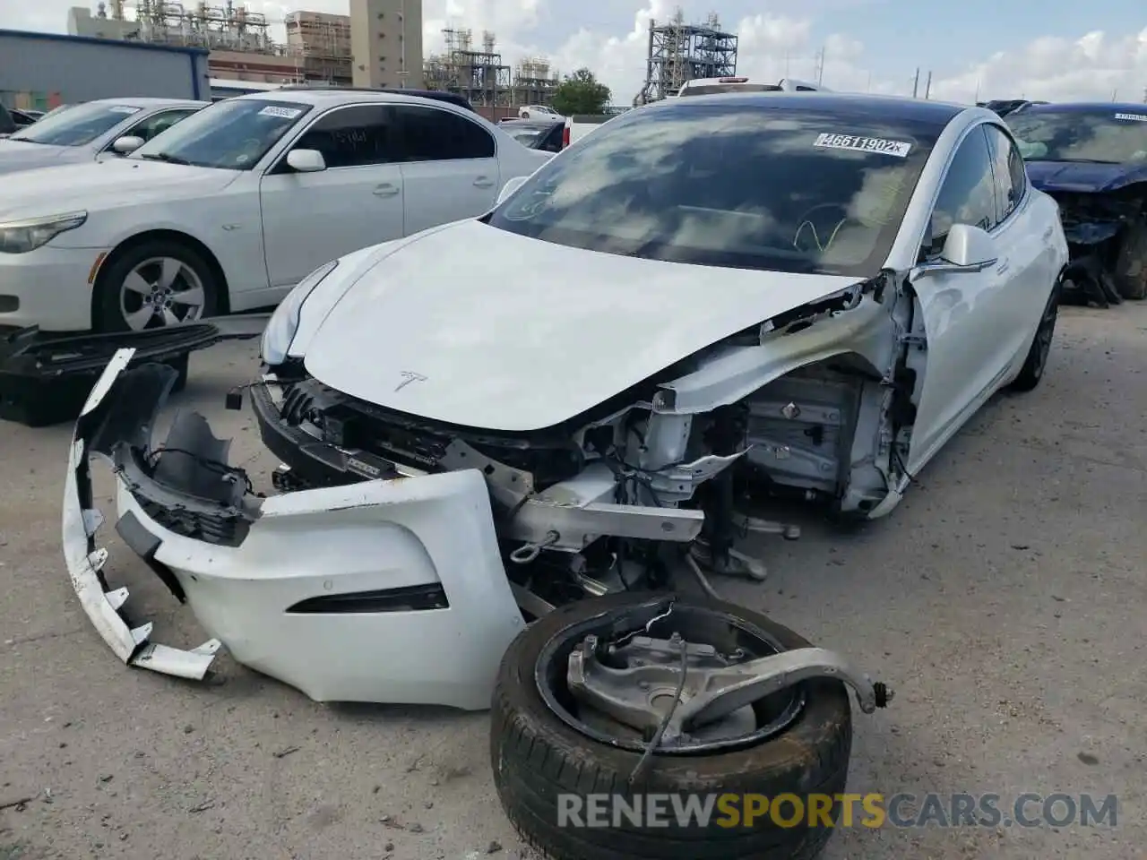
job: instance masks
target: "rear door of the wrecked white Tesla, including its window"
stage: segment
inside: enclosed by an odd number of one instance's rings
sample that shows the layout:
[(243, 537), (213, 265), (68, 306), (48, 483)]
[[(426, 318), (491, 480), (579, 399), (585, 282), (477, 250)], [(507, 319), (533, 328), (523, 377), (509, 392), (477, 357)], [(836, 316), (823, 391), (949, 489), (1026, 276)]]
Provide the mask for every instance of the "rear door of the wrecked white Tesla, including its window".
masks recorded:
[(1059, 275), (1055, 252), (1048, 241), (1053, 225), (1041, 222), (1039, 211), (1030, 205), (1028, 173), (1015, 142), (998, 125), (988, 124), (984, 132), (996, 178), (999, 226), (994, 236), (1002, 268), (1001, 308), (1011, 321), (1004, 336), (1006, 352), (1012, 357), (1011, 367), (1015, 369), (1027, 358), (1037, 322)]

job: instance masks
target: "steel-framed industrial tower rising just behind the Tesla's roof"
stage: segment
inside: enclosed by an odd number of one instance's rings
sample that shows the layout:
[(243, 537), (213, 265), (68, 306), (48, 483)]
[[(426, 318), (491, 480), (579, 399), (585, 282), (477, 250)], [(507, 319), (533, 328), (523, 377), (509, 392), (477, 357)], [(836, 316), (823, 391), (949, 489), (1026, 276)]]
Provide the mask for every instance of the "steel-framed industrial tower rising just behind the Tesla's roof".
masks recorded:
[(693, 78), (736, 75), (736, 34), (726, 32), (713, 13), (704, 24), (686, 24), (680, 7), (668, 23), (649, 22), (646, 79), (633, 104), (672, 95)]

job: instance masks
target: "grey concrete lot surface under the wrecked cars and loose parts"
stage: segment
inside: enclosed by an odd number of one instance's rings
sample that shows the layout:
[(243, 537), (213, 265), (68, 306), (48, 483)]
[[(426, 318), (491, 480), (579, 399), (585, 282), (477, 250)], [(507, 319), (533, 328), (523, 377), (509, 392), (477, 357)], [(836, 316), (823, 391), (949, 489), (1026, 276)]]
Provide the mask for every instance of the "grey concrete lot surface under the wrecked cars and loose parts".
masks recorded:
[[(197, 353), (178, 401), (235, 435), (233, 462), (265, 485), (252, 419), (223, 409), (253, 355)], [(764, 585), (716, 583), (895, 688), (855, 718), (850, 790), (1118, 796), (1114, 829), (855, 828), (827, 860), (1144, 858), (1144, 368), (1147, 305), (1064, 310), (1045, 383), (997, 398), (889, 519), (809, 524), (762, 545)], [(529, 857), (493, 793), (485, 714), (318, 705), (226, 656), (214, 685), (120, 665), (61, 557), (70, 431), (0, 424), (0, 860)], [(156, 640), (205, 639), (101, 534)]]

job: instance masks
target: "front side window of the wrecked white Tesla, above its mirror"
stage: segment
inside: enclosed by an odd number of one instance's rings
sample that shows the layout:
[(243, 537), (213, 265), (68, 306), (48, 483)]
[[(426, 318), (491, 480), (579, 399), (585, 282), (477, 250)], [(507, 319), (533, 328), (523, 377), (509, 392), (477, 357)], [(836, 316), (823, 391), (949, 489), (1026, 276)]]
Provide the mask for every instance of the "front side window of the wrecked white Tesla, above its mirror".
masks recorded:
[(968, 133), (949, 165), (933, 210), (931, 242), (921, 249), (924, 256), (944, 250), (947, 232), (954, 224), (968, 224), (984, 230), (998, 224), (992, 157), (983, 126)]

